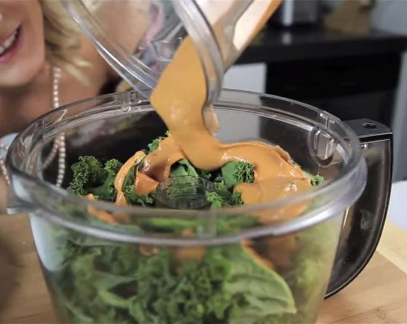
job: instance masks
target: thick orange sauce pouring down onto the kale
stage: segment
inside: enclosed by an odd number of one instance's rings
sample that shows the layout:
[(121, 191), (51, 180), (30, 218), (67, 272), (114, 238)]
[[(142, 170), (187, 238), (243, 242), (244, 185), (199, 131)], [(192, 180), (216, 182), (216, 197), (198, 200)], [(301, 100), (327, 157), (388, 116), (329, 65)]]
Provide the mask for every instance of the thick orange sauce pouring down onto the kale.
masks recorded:
[[(255, 32), (263, 26), (275, 11), (279, 2), (272, 2)], [(192, 40), (186, 37), (177, 49), (173, 60), (163, 71), (158, 85), (151, 95), (151, 104), (165, 122), (170, 135), (161, 140), (157, 150), (143, 156), (139, 151), (120, 169), (116, 176), (118, 192), (116, 204), (126, 205), (121, 190), (123, 181), (140, 156), (144, 157), (141, 170), (135, 168), (135, 190), (149, 194), (160, 181), (168, 178), (171, 165), (180, 159), (188, 159), (195, 167), (204, 170), (221, 168), (229, 161), (247, 161), (254, 165), (254, 183), (241, 183), (234, 190), (242, 194), (245, 204), (261, 203), (284, 198), (311, 189), (308, 178), (287, 152), (279, 146), (259, 141), (222, 143), (208, 131), (204, 123), (203, 107), (207, 87), (204, 69)], [(257, 212), (262, 223), (272, 223), (297, 216), (304, 204), (280, 208), (276, 213), (267, 210)]]

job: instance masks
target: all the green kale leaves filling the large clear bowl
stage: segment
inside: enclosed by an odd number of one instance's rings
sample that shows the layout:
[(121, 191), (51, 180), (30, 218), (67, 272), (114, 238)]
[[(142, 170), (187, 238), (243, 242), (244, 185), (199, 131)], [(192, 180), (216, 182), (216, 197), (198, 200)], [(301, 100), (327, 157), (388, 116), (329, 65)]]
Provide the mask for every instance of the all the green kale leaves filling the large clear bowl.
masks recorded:
[[(154, 140), (144, 153), (156, 150), (162, 139)], [(131, 165), (121, 191), (128, 205), (154, 207), (156, 193), (138, 194), (134, 187), (142, 163), (136, 159)], [(68, 191), (115, 202), (115, 179), (122, 167), (116, 159), (102, 163), (82, 156), (72, 165)], [(243, 161), (207, 171), (180, 159), (171, 166), (170, 176), (211, 181), (213, 189), (205, 192), (205, 198), (209, 208), (220, 208), (242, 205), (241, 193), (234, 187), (252, 183), (255, 174), (253, 165)], [(310, 181), (319, 185), (323, 178)], [(115, 215), (93, 214), (110, 225), (129, 225)], [(151, 218), (142, 230), (188, 237), (197, 234), (194, 222)], [(217, 231), (226, 233), (256, 225), (260, 225), (256, 215), (216, 219)], [(321, 276), (329, 276), (324, 261), (332, 259), (335, 251), (329, 244), (335, 239), (325, 223), (299, 234), (217, 246), (124, 244), (69, 229), (50, 231), (62, 261), (58, 269), (44, 271), (62, 320), (74, 323), (312, 322), (325, 292), (327, 280)]]

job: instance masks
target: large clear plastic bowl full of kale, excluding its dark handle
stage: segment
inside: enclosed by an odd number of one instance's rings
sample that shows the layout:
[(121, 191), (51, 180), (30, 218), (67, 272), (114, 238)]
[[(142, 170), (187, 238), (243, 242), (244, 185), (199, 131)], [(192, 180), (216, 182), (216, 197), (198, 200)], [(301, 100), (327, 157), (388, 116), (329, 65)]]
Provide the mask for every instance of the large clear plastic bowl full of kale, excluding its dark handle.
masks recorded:
[[(61, 132), (68, 170), (84, 155), (124, 162), (164, 134), (136, 92), (64, 106), (15, 139), (7, 156), (12, 188), (29, 211), (62, 322), (315, 322), (344, 215), (366, 182), (359, 140), (327, 112), (271, 95), (225, 90), (214, 110), (222, 141), (280, 145), (326, 182), (277, 201), (197, 210), (120, 207), (53, 185), (57, 161), (39, 165)], [(95, 211), (127, 222), (111, 224)], [(258, 215), (274, 221), (261, 225)]]

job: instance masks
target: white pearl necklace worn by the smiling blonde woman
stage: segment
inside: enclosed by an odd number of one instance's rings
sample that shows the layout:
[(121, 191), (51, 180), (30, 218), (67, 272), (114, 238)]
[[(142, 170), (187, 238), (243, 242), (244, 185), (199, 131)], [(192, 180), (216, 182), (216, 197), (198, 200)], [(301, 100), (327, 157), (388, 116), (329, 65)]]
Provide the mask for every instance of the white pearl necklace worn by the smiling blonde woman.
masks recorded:
[[(60, 68), (53, 68), (53, 109), (59, 107), (59, 79), (61, 78), (61, 69)], [(61, 116), (57, 119), (61, 121), (66, 114), (66, 110), (63, 110)], [(9, 150), (8, 145), (4, 145), (0, 143), (0, 150), (4, 150), (7, 152)], [(46, 157), (44, 163), (39, 168), (40, 171), (45, 170), (51, 162), (55, 159), (55, 156), (58, 154), (58, 173), (57, 173), (57, 183), (58, 187), (61, 187), (63, 182), (63, 177), (65, 175), (65, 159), (66, 159), (66, 147), (65, 147), (65, 134), (59, 134), (55, 140), (51, 152)], [(4, 176), (4, 180), (9, 185), (10, 184), (10, 176), (9, 172), (7, 171), (6, 165), (4, 164), (4, 159), (0, 156), (0, 170)]]

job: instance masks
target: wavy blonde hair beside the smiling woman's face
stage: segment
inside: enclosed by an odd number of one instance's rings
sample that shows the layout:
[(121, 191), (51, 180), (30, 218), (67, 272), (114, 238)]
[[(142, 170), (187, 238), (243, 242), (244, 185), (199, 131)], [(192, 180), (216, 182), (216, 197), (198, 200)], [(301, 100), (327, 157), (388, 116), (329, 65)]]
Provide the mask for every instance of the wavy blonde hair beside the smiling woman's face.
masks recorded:
[(88, 85), (81, 67), (90, 66), (76, 56), (81, 48), (81, 31), (57, 0), (39, 0), (44, 15), (46, 60)]

